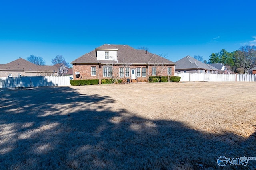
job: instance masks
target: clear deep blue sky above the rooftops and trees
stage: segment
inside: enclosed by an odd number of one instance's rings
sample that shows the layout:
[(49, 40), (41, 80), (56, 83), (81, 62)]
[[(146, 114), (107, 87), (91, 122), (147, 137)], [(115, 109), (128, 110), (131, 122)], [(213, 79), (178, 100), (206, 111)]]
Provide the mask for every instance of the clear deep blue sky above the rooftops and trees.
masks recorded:
[(30, 55), (69, 63), (103, 44), (148, 47), (175, 62), (256, 45), (256, 0), (3, 0), (0, 64)]

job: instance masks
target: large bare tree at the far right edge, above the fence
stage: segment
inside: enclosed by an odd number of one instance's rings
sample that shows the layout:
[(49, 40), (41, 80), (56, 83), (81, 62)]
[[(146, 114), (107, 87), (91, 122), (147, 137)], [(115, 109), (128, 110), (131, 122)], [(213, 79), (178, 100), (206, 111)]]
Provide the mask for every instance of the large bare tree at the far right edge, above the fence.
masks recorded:
[(240, 62), (240, 66), (244, 68), (244, 73), (247, 74), (248, 70), (256, 65), (256, 46), (246, 45), (240, 47), (236, 55)]

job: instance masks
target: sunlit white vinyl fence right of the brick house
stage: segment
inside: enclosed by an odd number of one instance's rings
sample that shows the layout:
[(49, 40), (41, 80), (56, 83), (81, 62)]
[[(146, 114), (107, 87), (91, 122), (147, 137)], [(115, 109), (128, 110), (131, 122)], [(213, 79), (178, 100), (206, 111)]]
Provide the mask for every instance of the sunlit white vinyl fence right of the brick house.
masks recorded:
[(180, 81), (183, 82), (256, 82), (256, 74), (209, 74), (176, 72), (175, 76), (180, 77)]

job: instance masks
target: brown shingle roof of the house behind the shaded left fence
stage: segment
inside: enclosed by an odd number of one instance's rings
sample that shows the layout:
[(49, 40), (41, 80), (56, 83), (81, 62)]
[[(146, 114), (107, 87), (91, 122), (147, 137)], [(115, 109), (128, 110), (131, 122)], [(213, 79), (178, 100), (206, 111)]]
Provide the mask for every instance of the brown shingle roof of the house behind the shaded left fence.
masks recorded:
[(24, 70), (31, 72), (40, 72), (40, 71), (57, 71), (56, 66), (41, 66), (31, 63), (25, 59), (19, 58), (7, 64), (1, 64), (0, 70)]

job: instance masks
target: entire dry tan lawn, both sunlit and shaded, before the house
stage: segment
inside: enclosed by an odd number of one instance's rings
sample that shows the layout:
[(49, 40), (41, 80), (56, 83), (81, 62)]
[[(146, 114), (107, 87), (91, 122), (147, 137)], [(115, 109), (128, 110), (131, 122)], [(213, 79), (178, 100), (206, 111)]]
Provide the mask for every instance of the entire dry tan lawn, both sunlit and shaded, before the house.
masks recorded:
[[(255, 82), (0, 89), (0, 169), (241, 169)], [(201, 167), (199, 165), (202, 165)]]

